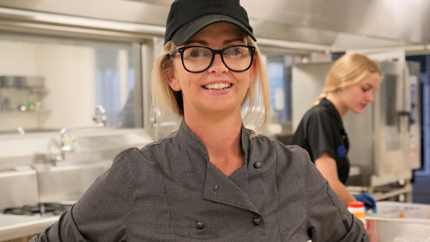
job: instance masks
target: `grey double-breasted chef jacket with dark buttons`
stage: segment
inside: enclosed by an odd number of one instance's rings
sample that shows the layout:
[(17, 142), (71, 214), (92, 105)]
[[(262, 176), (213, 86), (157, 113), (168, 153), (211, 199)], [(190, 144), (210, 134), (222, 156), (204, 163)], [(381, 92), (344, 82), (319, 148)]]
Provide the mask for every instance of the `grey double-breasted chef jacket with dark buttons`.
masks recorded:
[(185, 122), (124, 150), (31, 242), (369, 241), (304, 149), (250, 133), (242, 125), (244, 165), (228, 177)]

